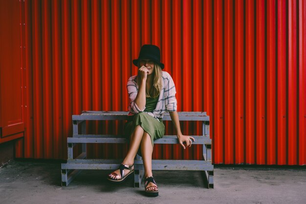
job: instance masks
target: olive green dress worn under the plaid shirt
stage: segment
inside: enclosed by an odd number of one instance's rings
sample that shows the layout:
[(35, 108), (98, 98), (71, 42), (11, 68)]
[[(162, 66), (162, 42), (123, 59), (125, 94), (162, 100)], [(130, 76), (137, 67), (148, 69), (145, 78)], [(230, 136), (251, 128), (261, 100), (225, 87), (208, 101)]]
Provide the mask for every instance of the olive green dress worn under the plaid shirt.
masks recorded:
[[(146, 97), (146, 109), (144, 112), (153, 112), (156, 108), (159, 95), (156, 98)], [(132, 116), (128, 116), (128, 122), (124, 126), (124, 133), (130, 142), (131, 135), (137, 125), (140, 125), (142, 129), (151, 136), (151, 142), (153, 146), (153, 141), (158, 138), (162, 138), (165, 134), (165, 125), (162, 122), (162, 119), (159, 121), (153, 116), (140, 112)], [(141, 156), (141, 149), (139, 146), (137, 154)]]

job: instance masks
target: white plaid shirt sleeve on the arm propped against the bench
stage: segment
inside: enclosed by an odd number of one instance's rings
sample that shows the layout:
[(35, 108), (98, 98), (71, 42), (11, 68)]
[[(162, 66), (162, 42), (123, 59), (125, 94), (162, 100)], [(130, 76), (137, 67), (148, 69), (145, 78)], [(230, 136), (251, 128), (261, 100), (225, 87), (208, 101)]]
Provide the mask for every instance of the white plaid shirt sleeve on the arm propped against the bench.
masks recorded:
[(170, 76), (170, 74), (165, 79), (164, 88), (165, 88), (164, 96), (165, 96), (166, 111), (174, 112), (177, 110), (177, 101), (175, 98), (176, 89), (175, 89), (174, 81), (172, 77)]

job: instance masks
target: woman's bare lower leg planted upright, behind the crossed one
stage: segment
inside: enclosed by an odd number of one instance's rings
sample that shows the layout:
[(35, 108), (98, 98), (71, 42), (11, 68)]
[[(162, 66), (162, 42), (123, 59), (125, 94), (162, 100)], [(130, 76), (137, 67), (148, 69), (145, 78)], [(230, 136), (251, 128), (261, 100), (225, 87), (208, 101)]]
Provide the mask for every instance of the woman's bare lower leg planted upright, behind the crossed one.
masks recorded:
[[(152, 153), (153, 153), (153, 146), (151, 142), (151, 137), (150, 135), (145, 132), (142, 136), (141, 139), (141, 155), (142, 155), (142, 160), (143, 160), (143, 166), (145, 168), (145, 175), (144, 177), (152, 177)], [(150, 187), (152, 186), (152, 187)], [(157, 190), (157, 186), (150, 182), (147, 187), (150, 187), (148, 190)]]

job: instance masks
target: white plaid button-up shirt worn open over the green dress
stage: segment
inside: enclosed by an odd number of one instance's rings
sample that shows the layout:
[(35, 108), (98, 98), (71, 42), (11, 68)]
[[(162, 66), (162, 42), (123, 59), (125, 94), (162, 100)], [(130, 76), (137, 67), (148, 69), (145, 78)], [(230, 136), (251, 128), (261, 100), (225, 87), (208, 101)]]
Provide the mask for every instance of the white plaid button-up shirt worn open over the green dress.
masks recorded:
[[(136, 75), (131, 76), (127, 84), (128, 94), (130, 98), (130, 105), (128, 108), (130, 113), (128, 115), (134, 115), (139, 112), (144, 112), (144, 110), (146, 109), (146, 107), (144, 107), (142, 110), (140, 110), (135, 103), (135, 99), (139, 89), (139, 87), (137, 86), (136, 77)], [(160, 91), (155, 110), (153, 112), (144, 112), (153, 116), (158, 121), (163, 118), (165, 112), (173, 112), (177, 110), (177, 102), (175, 98), (176, 90), (174, 81), (170, 74), (166, 71), (162, 71), (162, 79), (162, 89)]]

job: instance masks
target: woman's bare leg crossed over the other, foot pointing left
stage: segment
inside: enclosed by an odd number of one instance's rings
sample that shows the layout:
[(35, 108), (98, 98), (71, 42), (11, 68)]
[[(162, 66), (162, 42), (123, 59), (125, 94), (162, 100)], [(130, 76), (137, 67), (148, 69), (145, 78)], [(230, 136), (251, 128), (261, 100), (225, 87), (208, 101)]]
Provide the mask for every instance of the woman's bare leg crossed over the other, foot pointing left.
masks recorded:
[[(144, 130), (142, 129), (140, 125), (137, 125), (131, 135), (130, 148), (128, 150), (128, 154), (122, 162), (124, 165), (132, 165), (134, 163), (134, 158), (137, 154), (143, 134), (144, 134)], [(129, 173), (129, 171), (130, 170), (128, 169), (124, 169), (124, 174), (126, 175), (127, 173)], [(116, 173), (117, 175), (120, 175), (120, 170), (116, 170), (112, 173)], [(114, 179), (116, 176), (112, 173), (109, 174), (109, 177)]]

